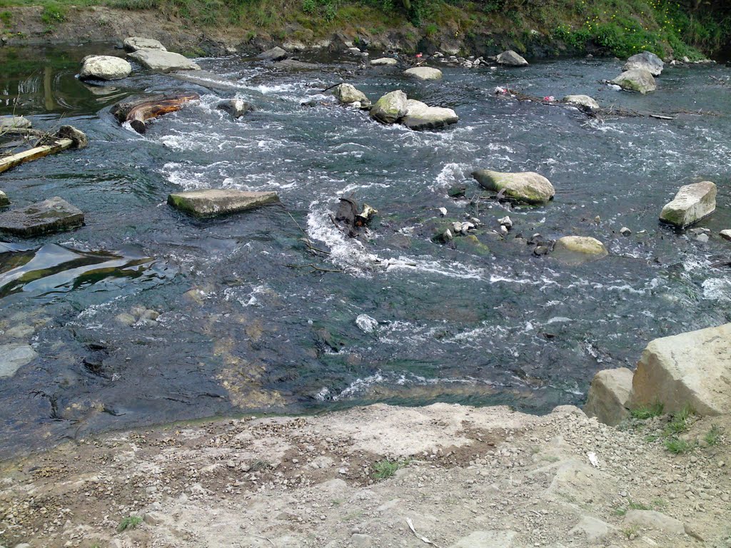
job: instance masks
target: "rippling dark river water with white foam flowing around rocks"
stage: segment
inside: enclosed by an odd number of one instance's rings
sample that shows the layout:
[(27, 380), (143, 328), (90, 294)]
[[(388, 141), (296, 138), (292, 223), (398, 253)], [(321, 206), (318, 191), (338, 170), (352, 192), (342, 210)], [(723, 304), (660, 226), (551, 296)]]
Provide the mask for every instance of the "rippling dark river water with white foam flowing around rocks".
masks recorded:
[[(86, 213), (74, 232), (0, 244), (0, 344), (38, 353), (0, 379), (4, 454), (239, 411), (441, 400), (542, 413), (583, 403), (597, 370), (633, 367), (652, 338), (730, 321), (731, 277), (711, 266), (731, 256), (717, 236), (731, 228), (724, 66), (669, 67), (648, 96), (600, 83), (621, 69), (600, 59), (444, 67), (441, 82), (416, 83), (348, 58), (283, 70), (233, 56), (198, 60), (200, 83), (136, 72), (92, 86), (75, 78), (87, 53), (105, 48), (0, 50), (0, 114), (72, 123), (91, 140), (0, 175), (16, 205), (60, 196)], [(341, 77), (374, 99), (401, 88), (460, 121), (441, 132), (381, 126), (327, 104), (321, 90)], [(596, 121), (496, 97), (497, 85), (689, 113)], [(200, 102), (142, 136), (109, 113), (142, 91)], [(216, 110), (232, 96), (257, 110), (240, 121)], [(326, 104), (302, 105), (313, 99)], [(540, 208), (479, 199), (478, 167), (540, 172), (556, 198)], [(719, 187), (700, 225), (708, 243), (657, 221), (679, 186), (699, 180)], [(466, 198), (450, 198), (459, 184)], [(165, 203), (209, 187), (276, 190), (283, 207), (196, 221)], [(330, 221), (351, 195), (379, 210), (359, 238)], [(515, 227), (503, 239), (506, 214)], [(485, 224), (477, 241), (431, 241), (466, 215)], [(536, 257), (515, 236), (537, 232), (594, 236), (610, 256)], [(139, 307), (160, 316), (140, 319)], [(118, 319), (130, 313), (135, 323)]]

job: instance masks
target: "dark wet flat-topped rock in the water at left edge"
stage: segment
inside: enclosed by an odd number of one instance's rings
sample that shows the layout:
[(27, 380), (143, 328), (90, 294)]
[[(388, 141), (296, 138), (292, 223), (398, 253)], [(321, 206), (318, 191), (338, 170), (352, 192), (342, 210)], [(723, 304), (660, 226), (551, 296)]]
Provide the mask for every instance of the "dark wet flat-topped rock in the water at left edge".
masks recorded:
[(57, 196), (0, 213), (0, 230), (25, 237), (74, 229), (83, 223), (82, 211)]

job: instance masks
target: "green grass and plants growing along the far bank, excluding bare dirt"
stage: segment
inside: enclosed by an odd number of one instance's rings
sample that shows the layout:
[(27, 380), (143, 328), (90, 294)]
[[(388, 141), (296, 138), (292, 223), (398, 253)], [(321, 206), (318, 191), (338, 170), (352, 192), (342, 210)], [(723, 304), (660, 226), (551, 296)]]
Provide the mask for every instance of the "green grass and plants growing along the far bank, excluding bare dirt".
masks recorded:
[(69, 9), (91, 5), (156, 10), (188, 28), (232, 26), (246, 31), (246, 39), (305, 43), (343, 30), (363, 37), (398, 30), (413, 42), (437, 45), (447, 38), (489, 48), (499, 37), (499, 46), (507, 42), (527, 53), (536, 42), (553, 41), (574, 53), (627, 57), (651, 50), (695, 59), (731, 37), (731, 9), (668, 0), (0, 0), (0, 25), (12, 31), (10, 7), (42, 6), (51, 32)]

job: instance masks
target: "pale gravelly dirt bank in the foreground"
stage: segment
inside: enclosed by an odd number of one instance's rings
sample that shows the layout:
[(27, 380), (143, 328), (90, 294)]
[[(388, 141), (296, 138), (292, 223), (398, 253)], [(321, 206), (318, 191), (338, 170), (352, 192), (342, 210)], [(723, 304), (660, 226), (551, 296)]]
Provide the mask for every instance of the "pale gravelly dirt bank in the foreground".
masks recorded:
[[(730, 417), (702, 419), (686, 436), (702, 439), (711, 423), (731, 427)], [(654, 439), (663, 427), (618, 430), (573, 407), (539, 417), (436, 404), (104, 435), (3, 465), (0, 541), (731, 546), (729, 442), (674, 455)]]

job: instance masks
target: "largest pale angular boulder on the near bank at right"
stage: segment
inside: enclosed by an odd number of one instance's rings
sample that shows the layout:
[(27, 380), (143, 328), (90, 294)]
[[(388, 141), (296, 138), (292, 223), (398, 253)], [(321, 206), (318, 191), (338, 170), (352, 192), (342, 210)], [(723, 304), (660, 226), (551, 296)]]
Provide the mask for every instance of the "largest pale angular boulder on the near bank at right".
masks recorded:
[(731, 324), (652, 340), (632, 378), (632, 408), (731, 414)]

